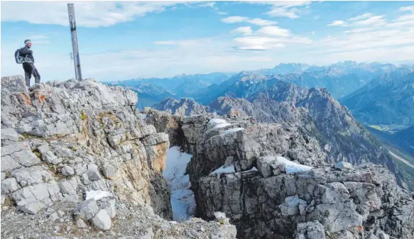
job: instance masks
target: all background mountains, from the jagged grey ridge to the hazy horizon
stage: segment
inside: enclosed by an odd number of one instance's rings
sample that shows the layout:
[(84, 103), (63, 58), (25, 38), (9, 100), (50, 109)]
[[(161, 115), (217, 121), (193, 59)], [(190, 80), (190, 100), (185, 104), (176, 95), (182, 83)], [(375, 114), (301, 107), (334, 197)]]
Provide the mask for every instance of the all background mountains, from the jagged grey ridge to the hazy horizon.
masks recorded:
[[(414, 126), (413, 71), (414, 65), (377, 62), (322, 67), (288, 63), (237, 74), (131, 79), (116, 84), (140, 90), (141, 101), (148, 99), (140, 108), (153, 105), (182, 116), (215, 112), (298, 128), (320, 143), (327, 162), (386, 165), (401, 185), (414, 189), (414, 140), (408, 128)], [(147, 84), (160, 88), (153, 91)], [(377, 132), (380, 124), (392, 124), (401, 132)], [(396, 140), (400, 134), (404, 140)]]

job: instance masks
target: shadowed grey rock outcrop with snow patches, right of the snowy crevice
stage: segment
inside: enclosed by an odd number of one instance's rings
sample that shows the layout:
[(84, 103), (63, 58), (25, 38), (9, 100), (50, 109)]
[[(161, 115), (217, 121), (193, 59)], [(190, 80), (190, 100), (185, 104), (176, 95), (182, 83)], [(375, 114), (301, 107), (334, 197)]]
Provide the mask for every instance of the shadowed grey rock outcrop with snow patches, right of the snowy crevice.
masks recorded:
[(197, 216), (224, 212), (238, 238), (414, 237), (413, 195), (385, 167), (325, 165), (295, 128), (216, 117), (181, 118)]

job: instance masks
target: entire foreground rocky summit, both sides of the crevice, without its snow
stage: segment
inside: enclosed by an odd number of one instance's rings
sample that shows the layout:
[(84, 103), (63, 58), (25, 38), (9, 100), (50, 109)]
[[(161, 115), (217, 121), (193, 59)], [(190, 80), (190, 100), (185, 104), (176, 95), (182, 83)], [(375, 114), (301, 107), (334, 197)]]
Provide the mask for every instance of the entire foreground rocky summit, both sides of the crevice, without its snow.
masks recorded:
[[(94, 79), (1, 78), (1, 238), (414, 238), (413, 194), (387, 167), (329, 162), (288, 124), (137, 101)], [(192, 155), (196, 212), (180, 223), (170, 146)]]

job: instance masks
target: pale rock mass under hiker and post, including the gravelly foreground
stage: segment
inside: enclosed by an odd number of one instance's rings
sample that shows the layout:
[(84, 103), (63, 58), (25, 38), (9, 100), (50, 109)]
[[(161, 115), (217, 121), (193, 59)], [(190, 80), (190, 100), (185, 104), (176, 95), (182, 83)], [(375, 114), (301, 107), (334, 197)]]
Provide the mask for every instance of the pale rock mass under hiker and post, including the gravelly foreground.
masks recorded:
[[(163, 219), (172, 218), (162, 177), (170, 143), (137, 100), (94, 79), (28, 89), (21, 76), (1, 78), (2, 238), (234, 238), (231, 225)], [(65, 213), (48, 213), (57, 210)], [(44, 225), (49, 216), (60, 224)]]

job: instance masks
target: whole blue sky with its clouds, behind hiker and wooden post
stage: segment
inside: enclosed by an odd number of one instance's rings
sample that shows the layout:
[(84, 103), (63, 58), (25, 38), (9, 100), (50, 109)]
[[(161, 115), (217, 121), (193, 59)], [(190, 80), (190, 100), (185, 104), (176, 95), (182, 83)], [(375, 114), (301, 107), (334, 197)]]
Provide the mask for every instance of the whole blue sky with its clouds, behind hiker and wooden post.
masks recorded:
[[(414, 60), (413, 1), (74, 1), (82, 76)], [(65, 1), (1, 2), (1, 76), (31, 39), (42, 82), (74, 76)]]

